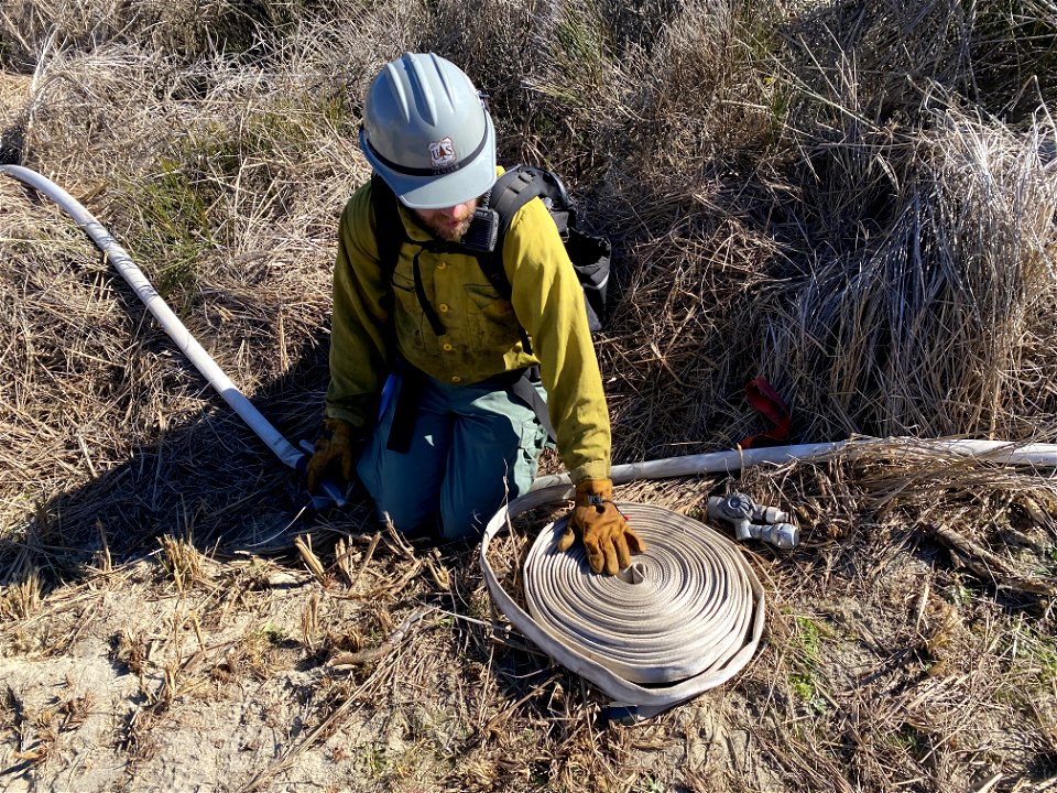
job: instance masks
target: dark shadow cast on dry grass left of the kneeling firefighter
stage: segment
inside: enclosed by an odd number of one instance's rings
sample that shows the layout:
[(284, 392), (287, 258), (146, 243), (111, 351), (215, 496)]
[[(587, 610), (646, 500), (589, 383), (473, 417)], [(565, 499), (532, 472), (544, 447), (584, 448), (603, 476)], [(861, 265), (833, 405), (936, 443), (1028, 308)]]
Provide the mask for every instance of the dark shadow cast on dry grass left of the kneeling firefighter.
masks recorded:
[[(192, 377), (200, 377), (189, 362)], [(252, 395), (258, 410), (293, 444), (314, 438), (326, 388), (326, 348), (299, 360)], [(358, 492), (340, 513), (371, 521)], [(22, 531), (0, 537), (4, 584), (35, 574), (42, 595), (87, 567), (117, 564), (159, 548), (159, 537), (190, 541), (206, 554), (275, 553), (316, 522), (304, 480), (284, 466), (214, 394), (211, 406), (84, 486), (36, 506)]]

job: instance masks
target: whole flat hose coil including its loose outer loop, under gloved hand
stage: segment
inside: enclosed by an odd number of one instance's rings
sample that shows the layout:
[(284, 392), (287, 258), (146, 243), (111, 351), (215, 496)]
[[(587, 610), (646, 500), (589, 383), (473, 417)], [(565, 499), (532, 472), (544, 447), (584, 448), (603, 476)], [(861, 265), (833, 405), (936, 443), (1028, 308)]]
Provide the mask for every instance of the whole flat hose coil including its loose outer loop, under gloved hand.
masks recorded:
[(755, 653), (763, 587), (719, 532), (660, 507), (620, 503), (646, 552), (617, 576), (590, 573), (581, 546), (558, 552), (565, 520), (540, 532), (524, 561), (526, 612), (488, 551), (509, 521), (571, 499), (571, 485), (532, 490), (500, 509), (481, 542), (489, 594), (522, 634), (611, 697), (608, 715), (649, 718), (721, 685)]

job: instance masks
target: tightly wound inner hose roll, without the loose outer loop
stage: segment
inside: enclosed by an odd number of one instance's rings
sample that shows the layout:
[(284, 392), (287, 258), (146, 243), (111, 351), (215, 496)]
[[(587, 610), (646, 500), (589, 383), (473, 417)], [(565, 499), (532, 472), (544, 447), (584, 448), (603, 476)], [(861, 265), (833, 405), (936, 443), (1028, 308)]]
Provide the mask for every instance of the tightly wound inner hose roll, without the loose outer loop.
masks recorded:
[(623, 680), (726, 678), (760, 638), (764, 598), (752, 567), (727, 537), (684, 515), (649, 504), (620, 509), (649, 550), (615, 576), (585, 578), (582, 546), (558, 551), (565, 521), (553, 523), (525, 560), (528, 612)]

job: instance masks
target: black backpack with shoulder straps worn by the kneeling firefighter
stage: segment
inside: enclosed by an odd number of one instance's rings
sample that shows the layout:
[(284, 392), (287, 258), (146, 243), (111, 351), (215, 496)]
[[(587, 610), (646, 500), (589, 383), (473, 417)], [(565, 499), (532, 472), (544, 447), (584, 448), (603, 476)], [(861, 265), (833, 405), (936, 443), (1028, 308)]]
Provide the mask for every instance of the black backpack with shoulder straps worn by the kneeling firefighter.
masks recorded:
[[(371, 177), (371, 194), (377, 224), (378, 252), (383, 273), (391, 279), (400, 258), (400, 249), (406, 235), (396, 196), (385, 182), (374, 174)], [(592, 333), (602, 327), (606, 317), (606, 298), (609, 289), (609, 240), (584, 232), (577, 227), (576, 204), (569, 197), (562, 180), (553, 172), (530, 165), (516, 165), (500, 176), (489, 192), (483, 206), (478, 207), (469, 230), (460, 242), (431, 242), (427, 248), (472, 253), (489, 283), (504, 300), (510, 300), (511, 286), (503, 269), (503, 241), (514, 215), (533, 198), (541, 198), (551, 213), (565, 250), (584, 289), (587, 321)], [(417, 243), (415, 243), (417, 245)], [(417, 281), (416, 281), (417, 286)], [(444, 334), (439, 317), (428, 304), (425, 294), (417, 289), (418, 302), (437, 335)], [(521, 328), (522, 346), (532, 351), (527, 334)]]

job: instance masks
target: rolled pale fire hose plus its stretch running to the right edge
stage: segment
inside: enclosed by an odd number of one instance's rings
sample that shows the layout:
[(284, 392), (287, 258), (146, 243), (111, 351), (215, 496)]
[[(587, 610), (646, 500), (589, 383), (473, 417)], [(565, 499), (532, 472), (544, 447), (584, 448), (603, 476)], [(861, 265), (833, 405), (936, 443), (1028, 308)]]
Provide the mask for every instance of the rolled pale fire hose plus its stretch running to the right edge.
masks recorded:
[[(837, 443), (733, 449), (618, 465), (613, 466), (611, 476), (613, 482), (619, 485), (638, 479), (731, 474), (762, 464), (854, 459), (878, 454), (894, 459), (903, 456), (926, 456), (951, 461), (972, 457), (999, 465), (1028, 466), (1036, 470), (1057, 468), (1057, 445), (1054, 444), (1017, 445), (1001, 441), (963, 438), (859, 438)], [(655, 548), (657, 553), (666, 556), (669, 543), (680, 547), (682, 554), (688, 534), (695, 536), (695, 543), (710, 545), (715, 541), (712, 537), (706, 539), (711, 532), (708, 526), (684, 515), (669, 513), (667, 518), (657, 520), (652, 512), (642, 511), (646, 509), (642, 504), (621, 503), (620, 509), (629, 514), (635, 531), (644, 532), (647, 551), (633, 556), (630, 573), (624, 571), (621, 576), (625, 578), (618, 580), (607, 580), (603, 576), (592, 575), (582, 562), (582, 552), (580, 556), (574, 555), (573, 558), (563, 561), (560, 557), (569, 554), (556, 554), (553, 551), (563, 524), (552, 524), (541, 532), (524, 562), (523, 577), (528, 611), (504, 590), (500, 576), (488, 558), (489, 547), (497, 535), (505, 531), (519, 515), (538, 507), (567, 502), (573, 499), (575, 491), (567, 474), (541, 477), (533, 482), (527, 493), (502, 507), (488, 522), (479, 562), (489, 594), (510, 623), (563, 666), (598, 686), (612, 700), (608, 713), (622, 720), (655, 716), (721, 685), (744, 667), (754, 654), (763, 631), (764, 597), (759, 580), (737, 546), (717, 535), (722, 540), (718, 543), (720, 547), (733, 547), (733, 556), (716, 552), (713, 560), (717, 566), (709, 567), (708, 571), (701, 569), (705, 565), (696, 560), (680, 560), (674, 567), (669, 566), (668, 561), (663, 565), (655, 565), (652, 560), (642, 560), (643, 556), (653, 555)], [(672, 532), (678, 533), (677, 536), (673, 539)], [(708, 553), (712, 553), (711, 548)], [(697, 554), (695, 551), (694, 556)], [(540, 572), (536, 566), (541, 563), (553, 565), (557, 569)], [(680, 578), (684, 571), (679, 568), (679, 564), (686, 564), (693, 569), (690, 576), (699, 576), (701, 580), (709, 579), (707, 584), (697, 582), (691, 585), (695, 588), (700, 586), (699, 597), (705, 601), (704, 605), (690, 598), (695, 602), (687, 610), (682, 607), (683, 600), (679, 600), (680, 607), (675, 609), (668, 609), (667, 604), (663, 602), (672, 595), (667, 589), (668, 583), (657, 578)], [(653, 579), (630, 580), (629, 578), (639, 575), (636, 565), (643, 565), (642, 572), (646, 578), (652, 576)], [(740, 580), (742, 576), (754, 598), (751, 606), (747, 605), (745, 584)], [(560, 593), (556, 588), (552, 591), (552, 578), (563, 579)], [(723, 578), (726, 580), (721, 583)], [(724, 585), (728, 594), (717, 595), (716, 589)], [(633, 595), (628, 594), (631, 589), (635, 590)], [(614, 590), (620, 593), (619, 596), (613, 595)], [(598, 597), (599, 593), (602, 593), (601, 597)], [(719, 600), (724, 597), (732, 598), (734, 602), (727, 606), (733, 611), (724, 612), (719, 606), (713, 606), (710, 602), (713, 597)], [(541, 608), (541, 604), (551, 598), (558, 598), (558, 604)], [(617, 599), (615, 613), (604, 613), (604, 607), (599, 600), (607, 598)], [(556, 619), (548, 613), (551, 611), (558, 612)], [(694, 624), (680, 636), (682, 626), (689, 615), (693, 615), (695, 621), (700, 620), (702, 624)], [(712, 615), (718, 615), (717, 623), (712, 623)], [(597, 626), (602, 617), (608, 622), (608, 629), (599, 631)], [(629, 655), (635, 658), (640, 653), (654, 651), (652, 645), (645, 644), (643, 632), (635, 630), (635, 627), (642, 620), (652, 621), (655, 617), (662, 621), (667, 619), (674, 626), (674, 630), (663, 631), (664, 636), (660, 639), (662, 645), (665, 642), (671, 645), (673, 639), (679, 644), (680, 638), (686, 639), (682, 647), (676, 649), (676, 655), (671, 659), (666, 656), (663, 663), (657, 663), (658, 669), (663, 670), (657, 675), (654, 675), (652, 670), (638, 669), (639, 664), (628, 661)], [(750, 620), (748, 624), (739, 622), (745, 619)], [(729, 630), (726, 630), (727, 628)], [(693, 634), (702, 630), (704, 638), (696, 641)], [(609, 636), (599, 642), (599, 632)], [(738, 638), (741, 644), (733, 650)], [(650, 637), (649, 640), (653, 642), (655, 638)], [(684, 673), (685, 676), (680, 677)]]

